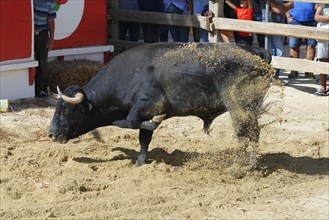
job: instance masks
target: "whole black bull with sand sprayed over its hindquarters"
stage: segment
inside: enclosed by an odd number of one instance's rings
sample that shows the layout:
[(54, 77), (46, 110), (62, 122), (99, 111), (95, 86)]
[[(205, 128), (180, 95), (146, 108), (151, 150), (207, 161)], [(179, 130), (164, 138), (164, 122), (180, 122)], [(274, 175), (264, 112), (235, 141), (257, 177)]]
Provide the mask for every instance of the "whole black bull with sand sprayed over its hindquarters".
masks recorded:
[(273, 80), (271, 55), (233, 44), (159, 43), (127, 50), (85, 86), (70, 86), (59, 100), (49, 137), (66, 143), (101, 126), (139, 129), (145, 163), (154, 129), (173, 116), (212, 121), (229, 111), (239, 144), (257, 145), (257, 118)]

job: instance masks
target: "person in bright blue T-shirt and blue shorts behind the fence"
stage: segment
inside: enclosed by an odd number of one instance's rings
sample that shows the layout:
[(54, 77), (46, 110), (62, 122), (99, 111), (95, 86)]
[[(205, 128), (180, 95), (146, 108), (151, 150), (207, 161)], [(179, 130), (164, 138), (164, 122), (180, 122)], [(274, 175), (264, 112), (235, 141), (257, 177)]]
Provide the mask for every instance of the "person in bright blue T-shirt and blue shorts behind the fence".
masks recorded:
[[(290, 9), (287, 13), (287, 22), (291, 25), (311, 26), (314, 27), (316, 22), (314, 20), (315, 10), (317, 5), (309, 2), (293, 2), (293, 9)], [(289, 37), (290, 57), (299, 58), (300, 56), (300, 38)], [(306, 59), (314, 60), (315, 57), (315, 45), (316, 40), (306, 39)], [(296, 78), (298, 71), (292, 70), (288, 76), (290, 79)], [(314, 74), (311, 72), (305, 72), (305, 77), (314, 78)]]

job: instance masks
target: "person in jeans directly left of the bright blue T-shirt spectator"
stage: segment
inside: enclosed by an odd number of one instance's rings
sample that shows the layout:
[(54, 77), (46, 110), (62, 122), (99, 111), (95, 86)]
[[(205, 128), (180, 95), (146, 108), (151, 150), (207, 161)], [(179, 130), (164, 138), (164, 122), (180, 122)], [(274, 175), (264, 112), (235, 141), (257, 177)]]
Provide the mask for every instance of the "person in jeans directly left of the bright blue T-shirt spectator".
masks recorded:
[[(269, 22), (284, 24), (286, 21), (286, 11), (291, 9), (292, 2), (284, 3), (283, 0), (270, 0), (270, 13)], [(284, 49), (284, 37), (283, 36), (269, 36), (269, 41), (272, 49), (273, 56), (283, 56)], [(280, 69), (276, 70), (275, 77), (279, 78)]]

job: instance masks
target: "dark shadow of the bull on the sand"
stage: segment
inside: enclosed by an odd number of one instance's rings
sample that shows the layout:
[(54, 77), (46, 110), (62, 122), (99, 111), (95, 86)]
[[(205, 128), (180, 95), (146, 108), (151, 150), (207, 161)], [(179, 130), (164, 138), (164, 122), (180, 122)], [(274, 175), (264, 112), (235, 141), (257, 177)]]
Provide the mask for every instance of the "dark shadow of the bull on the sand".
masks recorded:
[[(135, 163), (139, 155), (138, 151), (123, 147), (116, 147), (113, 151), (120, 151), (124, 154), (108, 160), (92, 159), (88, 157), (76, 157), (73, 158), (73, 160), (79, 163), (104, 163), (116, 160), (132, 160), (132, 162)], [(213, 152), (212, 154), (216, 157), (216, 154), (222, 155), (223, 152)], [(209, 154), (207, 157), (209, 158)], [(161, 148), (154, 148), (148, 153), (147, 163), (156, 161), (157, 163), (165, 163), (171, 166), (183, 166), (185, 163), (189, 162), (190, 158), (202, 158), (202, 154), (197, 152), (183, 152), (180, 150), (168, 153)], [(218, 160), (214, 161), (220, 163)], [(259, 170), (266, 170), (265, 176), (277, 170), (287, 170), (292, 173), (306, 175), (329, 175), (329, 158), (293, 157), (287, 153), (269, 153), (261, 155), (259, 167)]]

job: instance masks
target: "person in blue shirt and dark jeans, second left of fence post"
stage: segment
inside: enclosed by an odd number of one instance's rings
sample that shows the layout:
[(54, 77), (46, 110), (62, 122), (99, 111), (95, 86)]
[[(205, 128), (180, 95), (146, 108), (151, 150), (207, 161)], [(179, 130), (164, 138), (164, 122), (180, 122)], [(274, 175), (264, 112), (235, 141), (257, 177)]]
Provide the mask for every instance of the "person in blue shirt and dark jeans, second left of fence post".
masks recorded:
[[(192, 0), (172, 0), (165, 5), (166, 13), (192, 15)], [(171, 36), (175, 42), (188, 42), (189, 27), (169, 26)]]

